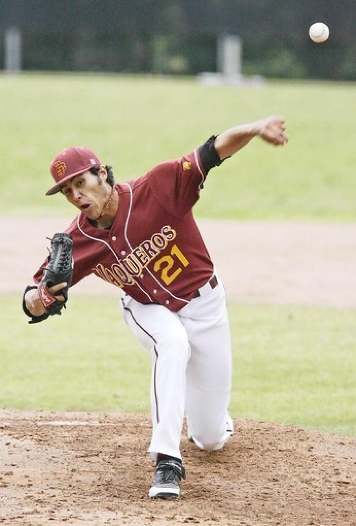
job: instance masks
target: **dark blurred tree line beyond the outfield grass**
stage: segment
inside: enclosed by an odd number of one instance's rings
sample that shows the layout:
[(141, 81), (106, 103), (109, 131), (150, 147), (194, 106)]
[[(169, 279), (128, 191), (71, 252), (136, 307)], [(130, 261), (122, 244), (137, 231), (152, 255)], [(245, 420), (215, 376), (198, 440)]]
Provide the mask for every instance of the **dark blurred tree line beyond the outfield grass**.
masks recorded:
[[(329, 41), (308, 37), (313, 22)], [(217, 38), (242, 39), (246, 75), (356, 80), (356, 0), (0, 0), (22, 67), (195, 75), (217, 70)]]

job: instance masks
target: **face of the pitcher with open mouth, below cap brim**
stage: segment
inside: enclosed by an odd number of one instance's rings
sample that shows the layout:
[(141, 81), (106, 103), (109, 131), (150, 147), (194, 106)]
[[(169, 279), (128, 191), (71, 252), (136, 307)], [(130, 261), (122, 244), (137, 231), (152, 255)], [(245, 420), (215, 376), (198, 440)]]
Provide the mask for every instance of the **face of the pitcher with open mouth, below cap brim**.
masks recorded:
[(106, 177), (86, 171), (61, 187), (62, 194), (72, 205), (79, 208), (89, 219), (97, 219), (108, 200), (108, 190), (102, 184)]

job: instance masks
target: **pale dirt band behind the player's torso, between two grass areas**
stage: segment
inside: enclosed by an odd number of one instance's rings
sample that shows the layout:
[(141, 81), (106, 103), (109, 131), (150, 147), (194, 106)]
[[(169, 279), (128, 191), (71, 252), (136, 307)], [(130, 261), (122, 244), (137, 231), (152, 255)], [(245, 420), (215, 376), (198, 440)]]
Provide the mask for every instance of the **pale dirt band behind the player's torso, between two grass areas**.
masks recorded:
[[(66, 218), (1, 217), (0, 294), (22, 291)], [(240, 303), (356, 307), (356, 225), (198, 221), (228, 299)], [(24, 255), (26, 254), (26, 257)], [(71, 294), (118, 294), (89, 277)]]

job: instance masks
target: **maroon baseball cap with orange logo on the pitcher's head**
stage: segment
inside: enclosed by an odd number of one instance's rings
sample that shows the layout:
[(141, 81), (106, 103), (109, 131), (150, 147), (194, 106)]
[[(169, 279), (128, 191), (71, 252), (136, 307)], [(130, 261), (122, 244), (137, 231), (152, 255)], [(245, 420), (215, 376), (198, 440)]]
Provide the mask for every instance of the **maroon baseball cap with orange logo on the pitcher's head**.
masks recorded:
[(101, 160), (89, 148), (70, 146), (61, 150), (51, 162), (51, 176), (56, 184), (46, 192), (46, 196), (56, 194), (65, 181), (97, 165), (101, 165)]

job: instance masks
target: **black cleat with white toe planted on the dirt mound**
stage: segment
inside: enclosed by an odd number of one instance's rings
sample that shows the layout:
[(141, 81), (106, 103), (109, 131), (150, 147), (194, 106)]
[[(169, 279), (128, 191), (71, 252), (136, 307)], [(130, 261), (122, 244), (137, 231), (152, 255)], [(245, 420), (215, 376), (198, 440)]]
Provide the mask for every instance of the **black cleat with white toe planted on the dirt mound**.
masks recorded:
[(149, 497), (179, 497), (182, 479), (185, 479), (185, 469), (181, 462), (174, 459), (161, 460), (156, 466)]

